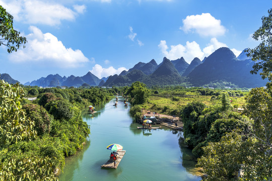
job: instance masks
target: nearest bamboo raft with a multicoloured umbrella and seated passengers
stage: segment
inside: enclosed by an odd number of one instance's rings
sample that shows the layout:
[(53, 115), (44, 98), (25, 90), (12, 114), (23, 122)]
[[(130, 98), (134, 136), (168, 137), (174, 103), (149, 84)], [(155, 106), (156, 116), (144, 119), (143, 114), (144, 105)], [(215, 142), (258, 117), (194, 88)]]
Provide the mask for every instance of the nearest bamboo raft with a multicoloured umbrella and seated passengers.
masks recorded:
[(114, 155), (117, 155), (116, 163), (114, 165), (114, 161), (109, 159), (105, 164), (101, 165), (101, 167), (116, 169), (125, 154), (125, 150), (122, 150), (123, 147), (121, 145), (115, 143), (107, 146), (107, 149), (114, 151)]

